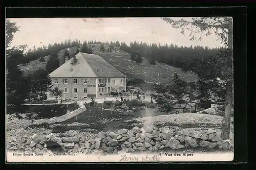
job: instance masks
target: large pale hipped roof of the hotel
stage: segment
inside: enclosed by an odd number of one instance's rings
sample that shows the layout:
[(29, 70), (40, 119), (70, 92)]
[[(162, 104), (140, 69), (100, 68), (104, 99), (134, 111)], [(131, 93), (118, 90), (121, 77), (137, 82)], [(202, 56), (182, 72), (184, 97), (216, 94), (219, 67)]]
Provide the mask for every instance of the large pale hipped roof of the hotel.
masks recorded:
[(104, 78), (104, 77), (125, 77), (110, 63), (98, 55), (78, 53), (77, 62), (72, 65), (73, 58), (52, 71), (51, 78)]

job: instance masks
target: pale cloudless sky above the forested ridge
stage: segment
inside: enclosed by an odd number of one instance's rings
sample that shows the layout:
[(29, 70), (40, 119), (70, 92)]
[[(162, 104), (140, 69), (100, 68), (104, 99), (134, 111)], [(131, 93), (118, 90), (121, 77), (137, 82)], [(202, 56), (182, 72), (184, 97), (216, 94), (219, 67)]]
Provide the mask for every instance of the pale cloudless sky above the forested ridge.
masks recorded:
[[(177, 18), (176, 18), (177, 19)], [(185, 18), (189, 19), (189, 18)], [(28, 45), (28, 48), (63, 42), (67, 39), (96, 41), (132, 41), (177, 44), (185, 46), (219, 47), (216, 35), (200, 41), (189, 40), (189, 33), (181, 34), (158, 17), (146, 18), (9, 18), (16, 22), (19, 31), (14, 34), (11, 46)]]

